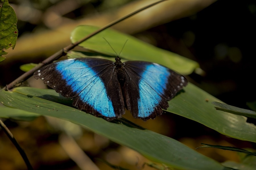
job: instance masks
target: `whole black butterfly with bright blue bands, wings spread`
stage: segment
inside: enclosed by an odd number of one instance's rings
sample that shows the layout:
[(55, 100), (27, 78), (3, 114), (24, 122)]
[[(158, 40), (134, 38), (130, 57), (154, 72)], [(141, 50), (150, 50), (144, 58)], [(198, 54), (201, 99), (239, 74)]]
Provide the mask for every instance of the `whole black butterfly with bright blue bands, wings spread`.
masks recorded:
[(62, 96), (73, 99), (73, 106), (112, 121), (125, 114), (154, 119), (169, 107), (187, 79), (157, 63), (100, 58), (64, 59), (34, 73)]

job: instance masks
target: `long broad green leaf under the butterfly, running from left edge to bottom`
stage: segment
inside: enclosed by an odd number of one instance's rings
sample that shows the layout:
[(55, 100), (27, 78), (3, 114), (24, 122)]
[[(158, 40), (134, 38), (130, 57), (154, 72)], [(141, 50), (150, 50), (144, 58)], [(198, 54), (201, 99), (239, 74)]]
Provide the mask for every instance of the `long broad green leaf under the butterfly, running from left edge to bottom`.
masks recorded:
[[(75, 108), (42, 99), (51, 95), (51, 93), (47, 94), (49, 91), (53, 92), (53, 90), (25, 87), (15, 88), (13, 92), (2, 90), (0, 92), (0, 101), (9, 107), (69, 120), (120, 145), (132, 148), (146, 158), (154, 162), (163, 163), (168, 167), (190, 170), (226, 169), (220, 163), (199, 154), (172, 138), (147, 129), (131, 127), (121, 120), (108, 122)], [(182, 93), (180, 95), (185, 94)], [(57, 97), (57, 95), (55, 94), (53, 98)]]

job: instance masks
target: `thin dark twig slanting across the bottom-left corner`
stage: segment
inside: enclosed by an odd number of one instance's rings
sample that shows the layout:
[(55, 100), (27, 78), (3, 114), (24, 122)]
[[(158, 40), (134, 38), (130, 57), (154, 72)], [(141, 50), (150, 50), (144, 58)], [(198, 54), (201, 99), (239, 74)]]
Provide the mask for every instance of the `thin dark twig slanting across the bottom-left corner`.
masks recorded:
[(13, 137), (13, 134), (11, 133), (11, 131), (5, 126), (5, 124), (3, 123), (3, 121), (0, 119), (0, 127), (3, 129), (3, 131), (6, 133), (6, 135), (8, 136), (8, 138), (12, 141), (12, 143), (14, 144), (14, 146), (17, 148), (17, 150), (19, 151), (21, 157), (23, 158), (24, 162), (27, 165), (28, 170), (33, 170), (33, 167), (31, 166), (28, 157), (26, 155), (26, 153), (24, 152), (24, 150), (20, 147), (20, 145), (18, 144), (18, 142), (16, 141), (16, 139)]

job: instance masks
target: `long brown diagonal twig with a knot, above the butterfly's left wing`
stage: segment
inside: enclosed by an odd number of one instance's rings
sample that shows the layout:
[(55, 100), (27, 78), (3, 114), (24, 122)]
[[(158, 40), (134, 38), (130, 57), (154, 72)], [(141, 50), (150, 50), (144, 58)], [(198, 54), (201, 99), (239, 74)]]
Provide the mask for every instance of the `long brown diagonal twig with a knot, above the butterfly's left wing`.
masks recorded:
[(65, 48), (59, 50), (58, 52), (56, 52), (56, 53), (53, 54), (52, 56), (48, 57), (47, 59), (45, 59), (44, 61), (42, 61), (41, 63), (39, 63), (36, 67), (34, 67), (33, 69), (31, 69), (30, 71), (28, 71), (28, 72), (24, 73), (23, 75), (19, 76), (18, 78), (16, 78), (16, 79), (15, 79), (13, 82), (11, 82), (10, 84), (7, 84), (7, 85), (3, 88), (3, 90), (8, 90), (8, 89), (10, 90), (10, 89), (12, 89), (13, 87), (16, 86), (16, 84), (19, 84), (19, 83), (23, 82), (24, 80), (26, 80), (28, 77), (30, 77), (37, 69), (39, 69), (40, 67), (42, 67), (42, 66), (44, 66), (44, 65), (46, 65), (46, 64), (48, 64), (48, 63), (50, 63), (50, 62), (52, 62), (52, 61), (54, 61), (54, 60), (57, 60), (58, 58), (60, 58), (60, 57), (62, 57), (62, 56), (65, 56), (68, 51), (72, 50), (72, 49), (75, 48), (77, 45), (79, 45), (81, 42), (83, 42), (83, 41), (89, 39), (90, 37), (92, 37), (92, 36), (94, 36), (94, 35), (100, 33), (101, 31), (103, 31), (103, 30), (105, 30), (105, 29), (107, 29), (107, 28), (109, 28), (109, 27), (111, 27), (111, 26), (113, 26), (113, 25), (115, 25), (115, 24), (117, 24), (117, 23), (119, 23), (119, 22), (121, 22), (121, 21), (123, 21), (123, 20), (125, 20), (125, 19), (127, 19), (127, 18), (129, 18), (129, 17), (131, 17), (131, 16), (133, 16), (133, 15), (135, 15), (135, 14), (137, 14), (137, 13), (143, 11), (143, 10), (145, 10), (145, 9), (147, 9), (147, 8), (150, 8), (150, 7), (152, 7), (152, 6), (156, 5), (156, 4), (161, 3), (161, 2), (164, 2), (164, 1), (167, 1), (167, 0), (157, 1), (157, 2), (152, 3), (152, 4), (150, 4), (150, 5), (146, 6), (146, 7), (141, 8), (141, 9), (139, 9), (139, 10), (136, 10), (136, 11), (134, 11), (134, 12), (132, 12), (132, 13), (130, 13), (130, 14), (128, 14), (128, 15), (126, 15), (126, 16), (120, 18), (120, 19), (117, 19), (117, 20), (111, 22), (110, 24), (105, 25), (104, 27), (98, 29), (97, 31), (95, 31), (95, 32), (93, 32), (93, 33), (87, 35), (87, 36), (84, 37), (83, 39), (81, 39), (81, 40), (79, 40), (79, 41), (77, 41), (77, 42), (75, 42), (75, 43), (73, 43), (73, 44), (70, 44), (70, 45), (66, 46)]

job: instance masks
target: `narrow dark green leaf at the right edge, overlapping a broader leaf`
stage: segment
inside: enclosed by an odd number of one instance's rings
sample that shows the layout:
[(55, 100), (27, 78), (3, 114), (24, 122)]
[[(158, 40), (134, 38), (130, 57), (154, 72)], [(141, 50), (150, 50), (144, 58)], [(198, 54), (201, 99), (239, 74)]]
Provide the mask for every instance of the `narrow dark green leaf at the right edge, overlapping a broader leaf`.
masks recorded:
[(227, 105), (225, 103), (220, 103), (220, 102), (215, 102), (215, 101), (212, 102), (212, 104), (216, 105), (217, 107), (215, 107), (215, 108), (220, 110), (220, 111), (229, 112), (229, 113), (233, 113), (233, 114), (242, 115), (242, 116), (246, 116), (246, 117), (256, 119), (256, 112), (255, 111), (250, 111), (250, 110), (247, 110), (247, 109), (242, 109), (242, 108), (239, 108), (239, 107), (235, 107), (235, 106), (231, 106), (231, 105)]

